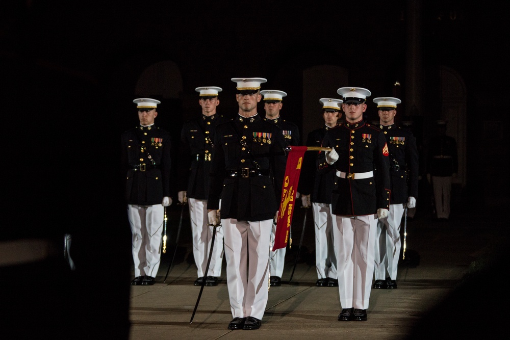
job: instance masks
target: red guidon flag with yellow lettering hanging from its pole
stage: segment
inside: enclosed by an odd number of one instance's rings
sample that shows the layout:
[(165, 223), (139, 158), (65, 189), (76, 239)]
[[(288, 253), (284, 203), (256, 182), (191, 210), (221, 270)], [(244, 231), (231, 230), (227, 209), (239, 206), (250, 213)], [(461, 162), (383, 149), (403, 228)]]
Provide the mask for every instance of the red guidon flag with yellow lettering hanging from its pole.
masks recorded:
[(289, 240), (292, 214), (294, 213), (295, 198), (301, 165), (303, 163), (306, 146), (292, 146), (287, 155), (287, 166), (285, 168), (284, 184), (282, 186), (282, 200), (278, 210), (278, 221), (276, 222), (276, 233), (274, 235), (273, 250), (287, 247)]

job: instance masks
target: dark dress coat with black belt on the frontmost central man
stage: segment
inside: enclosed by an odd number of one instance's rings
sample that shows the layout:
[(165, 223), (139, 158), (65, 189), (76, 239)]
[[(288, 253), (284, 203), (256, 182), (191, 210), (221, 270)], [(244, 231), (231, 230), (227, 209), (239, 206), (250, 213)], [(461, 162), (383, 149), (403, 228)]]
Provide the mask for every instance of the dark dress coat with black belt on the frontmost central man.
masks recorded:
[[(240, 143), (246, 142), (246, 146)], [(238, 115), (216, 127), (211, 167), (208, 209), (218, 209), (221, 219), (264, 221), (278, 211), (285, 175), (287, 146), (281, 130), (259, 115)], [(230, 176), (242, 168), (260, 170), (270, 175)]]

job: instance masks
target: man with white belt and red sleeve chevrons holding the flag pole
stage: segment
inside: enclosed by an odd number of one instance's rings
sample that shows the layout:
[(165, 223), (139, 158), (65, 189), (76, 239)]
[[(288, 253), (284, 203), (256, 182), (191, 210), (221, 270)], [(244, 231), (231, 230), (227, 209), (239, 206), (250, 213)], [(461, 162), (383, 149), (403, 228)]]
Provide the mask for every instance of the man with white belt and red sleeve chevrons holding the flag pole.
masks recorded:
[(330, 129), (319, 153), (319, 171), (335, 171), (331, 211), (334, 228), (338, 286), (342, 311), (339, 321), (366, 321), (374, 275), (377, 218), (388, 216), (390, 173), (388, 146), (377, 126), (365, 123), (370, 91), (342, 87), (345, 122)]

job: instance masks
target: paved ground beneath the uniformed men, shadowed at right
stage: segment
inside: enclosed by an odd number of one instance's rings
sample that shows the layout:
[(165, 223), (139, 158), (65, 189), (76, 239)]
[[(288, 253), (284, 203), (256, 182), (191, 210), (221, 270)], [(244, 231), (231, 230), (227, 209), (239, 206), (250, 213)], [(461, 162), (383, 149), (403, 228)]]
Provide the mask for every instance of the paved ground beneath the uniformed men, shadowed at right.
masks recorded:
[[(153, 286), (132, 286), (130, 339), (407, 339), (481, 337), (503, 331), (500, 308), (508, 302), (502, 264), (508, 232), (501, 211), (457, 207), (449, 222), (418, 211), (407, 221), (406, 259), (396, 290), (372, 290), (368, 321), (339, 322), (336, 287), (316, 287), (314, 231), (309, 212), (305, 238), (296, 261), (304, 211), (297, 211), (293, 245), (287, 251), (283, 284), (271, 287), (259, 330), (227, 329), (232, 315), (223, 268), (218, 286), (205, 287), (190, 323), (200, 287), (191, 253), (189, 221), (184, 219), (180, 246), (165, 283), (175, 247), (169, 245)], [(170, 221), (176, 223), (177, 216)], [(403, 229), (403, 228), (402, 228)], [(403, 231), (403, 230), (402, 230)], [(173, 236), (174, 238), (174, 236)], [(169, 243), (173, 242), (170, 236)], [(505, 268), (506, 269), (506, 268)]]

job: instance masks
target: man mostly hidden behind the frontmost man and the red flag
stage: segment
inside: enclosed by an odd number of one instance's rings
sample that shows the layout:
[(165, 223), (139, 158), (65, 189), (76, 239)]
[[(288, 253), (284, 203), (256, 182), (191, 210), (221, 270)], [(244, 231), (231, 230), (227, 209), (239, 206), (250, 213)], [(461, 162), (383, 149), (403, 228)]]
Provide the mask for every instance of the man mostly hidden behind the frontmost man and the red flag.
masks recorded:
[[(264, 110), (266, 111), (265, 121), (276, 125), (281, 131), (282, 135), (287, 142), (287, 145), (299, 145), (299, 129), (296, 124), (289, 122), (280, 117), (280, 110), (283, 107), (283, 97), (287, 96), (287, 93), (279, 90), (262, 90), (260, 94), (264, 100)], [(274, 238), (276, 233), (276, 224), (273, 224), (271, 232), (271, 249), (274, 244)], [(282, 274), (285, 266), (285, 253), (287, 247), (276, 249), (271, 251), (271, 269), (270, 269), (270, 285), (280, 286), (282, 285)]]

